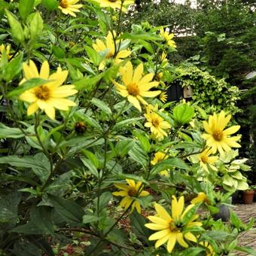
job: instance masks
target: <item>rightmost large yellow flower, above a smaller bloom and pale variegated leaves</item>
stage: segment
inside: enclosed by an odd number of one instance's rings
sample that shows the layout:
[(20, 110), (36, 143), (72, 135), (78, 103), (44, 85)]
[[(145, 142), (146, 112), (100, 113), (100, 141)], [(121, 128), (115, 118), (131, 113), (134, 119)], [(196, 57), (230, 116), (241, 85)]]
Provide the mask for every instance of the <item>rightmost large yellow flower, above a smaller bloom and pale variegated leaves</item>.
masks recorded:
[(236, 141), (240, 139), (240, 136), (230, 137), (231, 134), (239, 130), (240, 126), (235, 125), (224, 130), (230, 118), (230, 114), (225, 117), (224, 111), (221, 111), (218, 115), (216, 113), (211, 115), (208, 123), (203, 121), (206, 133), (203, 133), (202, 137), (206, 139), (206, 145), (212, 148), (212, 154), (215, 154), (217, 150), (220, 154), (224, 154), (224, 151), (230, 151), (231, 148), (240, 147), (240, 145), (236, 143)]

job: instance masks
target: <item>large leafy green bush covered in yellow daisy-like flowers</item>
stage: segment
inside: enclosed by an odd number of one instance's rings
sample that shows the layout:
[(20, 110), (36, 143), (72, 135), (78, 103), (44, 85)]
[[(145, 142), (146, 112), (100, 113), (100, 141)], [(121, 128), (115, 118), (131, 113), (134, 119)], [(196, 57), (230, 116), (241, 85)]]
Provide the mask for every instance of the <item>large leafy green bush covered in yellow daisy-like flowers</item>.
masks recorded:
[(239, 126), (166, 102), (175, 35), (123, 30), (130, 0), (5, 6), (0, 254), (251, 253), (237, 245), (251, 224), (212, 218), (249, 169), (228, 156)]

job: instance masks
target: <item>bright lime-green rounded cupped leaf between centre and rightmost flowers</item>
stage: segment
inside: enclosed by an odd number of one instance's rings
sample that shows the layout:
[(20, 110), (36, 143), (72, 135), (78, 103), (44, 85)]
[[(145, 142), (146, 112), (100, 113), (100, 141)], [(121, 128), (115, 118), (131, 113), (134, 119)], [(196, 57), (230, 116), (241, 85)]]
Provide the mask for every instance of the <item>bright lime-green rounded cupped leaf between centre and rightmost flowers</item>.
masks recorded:
[(180, 104), (173, 109), (173, 119), (177, 126), (182, 126), (185, 123), (189, 123), (194, 116), (194, 108), (189, 105)]

